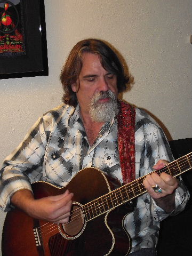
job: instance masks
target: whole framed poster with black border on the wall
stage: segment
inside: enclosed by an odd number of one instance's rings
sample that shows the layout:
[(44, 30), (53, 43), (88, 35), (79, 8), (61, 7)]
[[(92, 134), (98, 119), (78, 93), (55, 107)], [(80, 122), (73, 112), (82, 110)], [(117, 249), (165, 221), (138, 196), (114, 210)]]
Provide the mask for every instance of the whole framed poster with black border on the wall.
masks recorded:
[(0, 0), (0, 78), (48, 74), (44, 0)]

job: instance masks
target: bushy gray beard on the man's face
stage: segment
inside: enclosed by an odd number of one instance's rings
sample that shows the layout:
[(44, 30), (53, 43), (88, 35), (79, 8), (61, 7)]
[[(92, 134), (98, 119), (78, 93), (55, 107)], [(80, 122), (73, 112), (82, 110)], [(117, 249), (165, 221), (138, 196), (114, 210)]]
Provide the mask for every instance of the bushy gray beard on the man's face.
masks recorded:
[[(100, 99), (110, 98), (109, 102), (98, 102)], [(110, 122), (118, 114), (115, 94), (111, 91), (99, 92), (94, 95), (90, 103), (90, 117), (94, 122)]]

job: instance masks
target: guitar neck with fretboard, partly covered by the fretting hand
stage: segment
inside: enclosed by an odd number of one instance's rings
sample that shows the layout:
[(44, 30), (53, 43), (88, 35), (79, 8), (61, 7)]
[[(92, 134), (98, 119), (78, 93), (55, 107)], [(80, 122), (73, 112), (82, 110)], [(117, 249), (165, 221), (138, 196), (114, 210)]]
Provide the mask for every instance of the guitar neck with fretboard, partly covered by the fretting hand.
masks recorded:
[[(177, 177), (190, 169), (192, 169), (192, 152), (165, 165), (161, 170), (154, 172), (158, 175), (165, 172), (172, 177)], [(147, 190), (143, 186), (143, 180), (145, 178), (146, 175), (85, 204), (83, 206), (85, 219), (89, 221), (143, 193), (146, 193)]]

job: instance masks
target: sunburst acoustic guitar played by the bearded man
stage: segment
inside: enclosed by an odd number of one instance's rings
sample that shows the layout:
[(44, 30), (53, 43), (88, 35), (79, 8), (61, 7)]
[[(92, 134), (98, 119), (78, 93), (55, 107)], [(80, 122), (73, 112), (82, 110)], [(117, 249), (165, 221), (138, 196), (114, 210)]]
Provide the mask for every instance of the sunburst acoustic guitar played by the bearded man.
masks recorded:
[[(192, 152), (165, 165), (162, 172), (176, 177), (192, 168)], [(99, 169), (79, 171), (64, 188), (46, 182), (32, 184), (35, 198), (73, 191), (68, 223), (55, 224), (14, 209), (7, 213), (2, 235), (3, 256), (125, 256), (131, 237), (123, 226), (129, 202), (146, 193), (146, 175), (121, 187)]]

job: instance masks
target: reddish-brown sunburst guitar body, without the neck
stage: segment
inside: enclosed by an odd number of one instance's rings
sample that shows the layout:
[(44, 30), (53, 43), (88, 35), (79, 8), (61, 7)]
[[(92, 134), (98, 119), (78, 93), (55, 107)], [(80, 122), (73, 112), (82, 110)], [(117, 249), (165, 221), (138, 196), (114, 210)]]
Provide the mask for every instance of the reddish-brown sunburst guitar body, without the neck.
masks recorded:
[[(35, 198), (59, 195), (66, 189), (74, 193), (77, 207), (85, 205), (119, 186), (93, 167), (83, 169), (65, 188), (57, 188), (46, 182), (32, 185)], [(75, 208), (74, 208), (75, 209)], [(74, 237), (63, 236), (63, 226), (34, 220), (26, 213), (14, 209), (7, 213), (2, 235), (3, 256), (103, 256), (129, 254), (131, 238), (123, 227), (129, 205), (120, 205), (106, 214), (89, 221), (84, 220)], [(81, 226), (81, 223), (79, 224)], [(77, 225), (78, 227), (78, 225)], [(76, 228), (76, 226), (75, 226)], [(64, 232), (65, 233), (65, 232)]]

